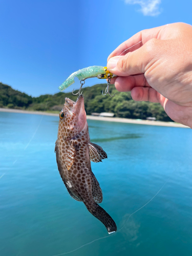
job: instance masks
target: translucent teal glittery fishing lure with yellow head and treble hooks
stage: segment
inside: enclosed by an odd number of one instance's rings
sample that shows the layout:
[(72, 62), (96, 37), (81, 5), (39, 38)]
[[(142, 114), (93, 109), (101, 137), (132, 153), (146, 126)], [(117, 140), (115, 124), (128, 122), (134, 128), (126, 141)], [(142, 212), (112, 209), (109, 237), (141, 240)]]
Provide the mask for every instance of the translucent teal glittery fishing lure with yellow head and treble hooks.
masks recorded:
[(73, 74), (71, 74), (66, 80), (65, 82), (63, 82), (61, 84), (61, 86), (59, 86), (59, 90), (62, 92), (64, 91), (66, 88), (68, 88), (69, 86), (71, 86), (71, 84), (73, 84), (75, 82), (74, 80), (74, 77), (77, 77), (79, 80), (80, 80), (80, 83), (81, 83), (81, 86), (80, 86), (80, 89), (78, 91), (78, 93), (74, 94), (74, 90), (73, 90), (73, 94), (74, 95), (77, 95), (79, 94), (80, 95), (80, 91), (81, 91), (81, 88), (84, 84), (84, 80), (88, 79), (88, 78), (93, 78), (93, 77), (97, 77), (99, 79), (108, 79), (108, 86), (106, 87), (105, 89), (105, 94), (103, 95), (106, 95), (107, 93), (113, 97), (110, 92), (109, 92), (109, 86), (110, 86), (110, 81), (111, 81), (111, 78), (113, 77), (116, 77), (116, 75), (112, 74), (111, 72), (109, 72), (108, 68), (107, 67), (102, 67), (102, 66), (91, 66), (91, 67), (88, 67), (88, 68), (84, 68), (84, 69), (80, 69), (76, 72), (74, 72)]

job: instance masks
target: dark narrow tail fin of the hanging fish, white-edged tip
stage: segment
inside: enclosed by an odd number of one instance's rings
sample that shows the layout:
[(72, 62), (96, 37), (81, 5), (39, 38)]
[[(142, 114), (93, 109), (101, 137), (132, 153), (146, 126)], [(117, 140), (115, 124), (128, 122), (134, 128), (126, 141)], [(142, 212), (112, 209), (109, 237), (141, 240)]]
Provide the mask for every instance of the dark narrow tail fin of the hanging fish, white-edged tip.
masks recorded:
[(102, 207), (100, 207), (94, 201), (83, 203), (86, 205), (87, 209), (91, 212), (91, 214), (105, 225), (109, 234), (114, 233), (117, 230), (115, 221)]

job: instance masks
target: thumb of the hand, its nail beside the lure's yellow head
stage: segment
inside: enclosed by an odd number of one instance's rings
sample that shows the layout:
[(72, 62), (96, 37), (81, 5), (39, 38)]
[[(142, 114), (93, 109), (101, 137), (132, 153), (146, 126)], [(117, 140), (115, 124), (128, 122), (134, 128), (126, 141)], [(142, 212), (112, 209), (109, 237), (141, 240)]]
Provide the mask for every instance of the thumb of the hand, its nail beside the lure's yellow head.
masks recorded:
[(148, 63), (153, 62), (156, 40), (151, 39), (139, 49), (124, 56), (115, 56), (109, 59), (108, 70), (117, 76), (129, 76), (145, 73)]

